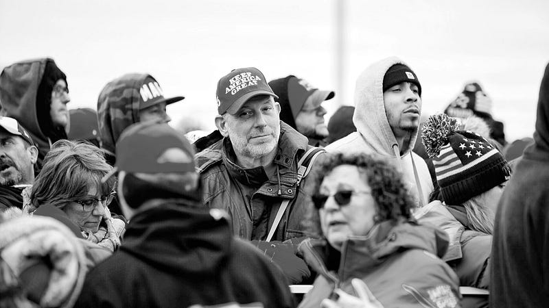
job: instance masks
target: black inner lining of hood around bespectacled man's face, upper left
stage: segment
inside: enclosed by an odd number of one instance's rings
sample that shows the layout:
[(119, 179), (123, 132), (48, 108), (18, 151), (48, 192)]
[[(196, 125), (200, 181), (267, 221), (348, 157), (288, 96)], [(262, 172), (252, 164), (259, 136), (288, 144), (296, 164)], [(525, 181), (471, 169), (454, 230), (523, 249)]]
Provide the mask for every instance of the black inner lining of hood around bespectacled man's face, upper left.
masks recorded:
[[(49, 116), (51, 92), (54, 90), (54, 86), (59, 79), (63, 79), (67, 83), (67, 75), (57, 67), (54, 60), (47, 59), (44, 75), (36, 93), (36, 118), (38, 119), (40, 130), (47, 138), (51, 139), (51, 143), (67, 139), (65, 127), (55, 127), (51, 121), (51, 116)], [(67, 90), (68, 88), (69, 84), (67, 84)]]

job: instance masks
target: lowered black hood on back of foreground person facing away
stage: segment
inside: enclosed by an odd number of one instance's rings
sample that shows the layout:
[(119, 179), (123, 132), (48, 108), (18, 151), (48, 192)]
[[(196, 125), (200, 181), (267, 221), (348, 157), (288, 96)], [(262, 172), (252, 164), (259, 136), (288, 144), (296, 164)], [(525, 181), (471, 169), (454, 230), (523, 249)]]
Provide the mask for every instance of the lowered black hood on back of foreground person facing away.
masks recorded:
[(224, 266), (233, 245), (225, 216), (220, 209), (175, 203), (138, 211), (120, 249), (182, 277), (213, 274)]

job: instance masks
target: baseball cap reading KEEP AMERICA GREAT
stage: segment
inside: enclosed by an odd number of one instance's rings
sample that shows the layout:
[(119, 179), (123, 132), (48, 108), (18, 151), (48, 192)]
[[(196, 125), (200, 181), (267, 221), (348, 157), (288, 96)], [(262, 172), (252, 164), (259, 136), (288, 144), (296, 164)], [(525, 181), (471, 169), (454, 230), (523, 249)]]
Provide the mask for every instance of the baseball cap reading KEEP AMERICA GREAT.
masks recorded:
[(235, 114), (248, 99), (257, 95), (279, 98), (272, 92), (263, 73), (253, 67), (231, 70), (231, 73), (219, 79), (215, 95), (219, 114)]

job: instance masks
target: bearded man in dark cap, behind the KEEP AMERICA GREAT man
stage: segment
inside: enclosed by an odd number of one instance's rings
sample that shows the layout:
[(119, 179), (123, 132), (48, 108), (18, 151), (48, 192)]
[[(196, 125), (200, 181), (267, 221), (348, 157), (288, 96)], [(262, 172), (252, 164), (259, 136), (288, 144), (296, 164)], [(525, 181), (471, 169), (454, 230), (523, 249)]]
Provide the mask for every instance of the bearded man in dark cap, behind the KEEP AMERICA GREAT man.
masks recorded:
[(281, 105), (280, 120), (309, 139), (312, 146), (325, 146), (328, 137), (324, 101), (333, 99), (334, 91), (318, 90), (305, 79), (294, 75), (269, 82)]

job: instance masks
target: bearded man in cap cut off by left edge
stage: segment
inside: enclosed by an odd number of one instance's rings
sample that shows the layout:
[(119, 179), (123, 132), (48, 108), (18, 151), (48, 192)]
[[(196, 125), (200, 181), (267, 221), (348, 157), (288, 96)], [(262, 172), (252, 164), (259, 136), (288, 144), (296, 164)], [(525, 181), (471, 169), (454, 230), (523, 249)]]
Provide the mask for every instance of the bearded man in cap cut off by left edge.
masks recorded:
[(17, 120), (0, 118), (0, 211), (23, 208), (24, 188), (34, 183), (38, 148)]

